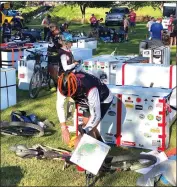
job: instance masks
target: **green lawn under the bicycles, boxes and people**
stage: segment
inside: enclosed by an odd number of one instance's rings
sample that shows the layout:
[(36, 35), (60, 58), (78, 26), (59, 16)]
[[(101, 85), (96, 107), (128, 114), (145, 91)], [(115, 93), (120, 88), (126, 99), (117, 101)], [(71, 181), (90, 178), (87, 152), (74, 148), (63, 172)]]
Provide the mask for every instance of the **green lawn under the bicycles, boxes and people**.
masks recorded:
[[(31, 26), (33, 27), (33, 26)], [(38, 26), (36, 26), (38, 27)], [(71, 30), (89, 31), (88, 25), (71, 25)], [(139, 42), (145, 38), (145, 24), (137, 25), (137, 33), (130, 35), (130, 42), (121, 44), (105, 44), (99, 42), (97, 55), (110, 54), (115, 47), (120, 55), (138, 54)], [(175, 64), (176, 48), (172, 48), (171, 58)], [(85, 175), (76, 171), (75, 167), (69, 167), (62, 171), (63, 162), (56, 160), (20, 159), (9, 151), (14, 144), (26, 144), (32, 146), (40, 143), (52, 147), (67, 148), (61, 142), (61, 133), (56, 113), (56, 92), (42, 92), (37, 99), (29, 99), (27, 91), (17, 89), (17, 105), (10, 107), (1, 113), (1, 120), (10, 120), (12, 110), (25, 110), (29, 114), (36, 114), (39, 119), (49, 119), (56, 126), (51, 136), (40, 138), (8, 137), (1, 136), (1, 184), (3, 186), (83, 186)], [(170, 148), (176, 147), (176, 125), (172, 126)], [(114, 148), (113, 152), (140, 152), (140, 149)], [(106, 174), (98, 180), (98, 186), (135, 186), (137, 178), (141, 176), (136, 172), (119, 172)]]

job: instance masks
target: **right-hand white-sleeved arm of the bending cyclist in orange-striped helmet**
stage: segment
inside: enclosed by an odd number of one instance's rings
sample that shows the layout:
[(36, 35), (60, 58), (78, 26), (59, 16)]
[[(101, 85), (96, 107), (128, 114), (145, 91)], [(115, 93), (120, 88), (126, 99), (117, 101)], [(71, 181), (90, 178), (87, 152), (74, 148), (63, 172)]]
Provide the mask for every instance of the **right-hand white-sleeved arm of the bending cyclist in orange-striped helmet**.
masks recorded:
[(83, 128), (86, 133), (97, 126), (101, 118), (100, 96), (97, 88), (92, 88), (89, 91), (88, 103), (90, 110), (90, 119), (86, 126)]

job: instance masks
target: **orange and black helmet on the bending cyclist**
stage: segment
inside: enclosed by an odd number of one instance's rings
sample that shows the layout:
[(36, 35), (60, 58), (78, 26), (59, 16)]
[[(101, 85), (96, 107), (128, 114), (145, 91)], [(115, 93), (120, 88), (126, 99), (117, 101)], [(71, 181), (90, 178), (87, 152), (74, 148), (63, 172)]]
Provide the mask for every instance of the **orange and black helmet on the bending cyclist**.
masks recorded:
[(58, 78), (59, 92), (67, 97), (71, 97), (77, 90), (76, 75), (72, 72), (64, 72)]

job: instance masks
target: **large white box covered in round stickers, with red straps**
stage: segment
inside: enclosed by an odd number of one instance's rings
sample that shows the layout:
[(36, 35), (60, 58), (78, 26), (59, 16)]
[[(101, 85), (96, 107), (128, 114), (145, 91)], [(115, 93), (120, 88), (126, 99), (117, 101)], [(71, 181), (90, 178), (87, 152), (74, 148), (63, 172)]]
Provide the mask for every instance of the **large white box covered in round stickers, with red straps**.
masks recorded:
[[(108, 85), (113, 103), (98, 130), (107, 144), (164, 151), (169, 144), (171, 89)], [(76, 127), (82, 123), (77, 106)], [(77, 128), (76, 128), (77, 129)], [(78, 134), (78, 132), (77, 132)]]

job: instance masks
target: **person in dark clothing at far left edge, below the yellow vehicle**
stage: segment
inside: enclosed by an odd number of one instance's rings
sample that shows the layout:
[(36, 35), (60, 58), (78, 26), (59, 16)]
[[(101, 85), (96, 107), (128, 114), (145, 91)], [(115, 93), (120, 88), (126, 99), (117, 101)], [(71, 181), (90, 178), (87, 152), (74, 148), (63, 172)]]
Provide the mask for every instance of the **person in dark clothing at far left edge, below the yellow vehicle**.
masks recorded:
[(2, 31), (2, 41), (4, 43), (9, 42), (10, 39), (11, 39), (12, 28), (11, 28), (11, 24), (8, 23), (7, 19), (4, 20), (4, 23), (2, 25), (2, 29), (3, 29), (3, 31)]

